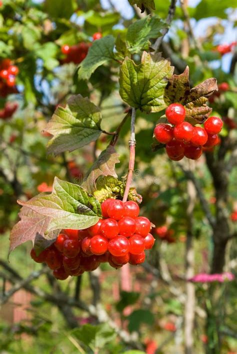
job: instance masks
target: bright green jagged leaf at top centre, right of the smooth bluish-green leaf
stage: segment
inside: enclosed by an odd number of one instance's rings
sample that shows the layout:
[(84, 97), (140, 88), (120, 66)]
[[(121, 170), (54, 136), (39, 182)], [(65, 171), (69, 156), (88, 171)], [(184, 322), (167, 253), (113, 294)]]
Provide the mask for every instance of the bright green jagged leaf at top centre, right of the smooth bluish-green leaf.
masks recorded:
[(142, 49), (148, 49), (150, 38), (157, 38), (161, 35), (160, 29), (167, 25), (158, 16), (146, 16), (136, 20), (127, 28), (126, 40), (131, 53), (137, 53)]

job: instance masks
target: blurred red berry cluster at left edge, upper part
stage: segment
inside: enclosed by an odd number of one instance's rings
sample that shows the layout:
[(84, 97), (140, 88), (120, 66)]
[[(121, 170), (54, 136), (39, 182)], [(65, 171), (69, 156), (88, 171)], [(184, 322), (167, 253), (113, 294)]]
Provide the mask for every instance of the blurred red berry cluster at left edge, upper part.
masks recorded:
[(12, 65), (10, 59), (3, 59), (0, 62), (0, 95), (5, 97), (8, 93), (14, 93), (11, 88), (15, 86), (15, 76), (19, 69)]

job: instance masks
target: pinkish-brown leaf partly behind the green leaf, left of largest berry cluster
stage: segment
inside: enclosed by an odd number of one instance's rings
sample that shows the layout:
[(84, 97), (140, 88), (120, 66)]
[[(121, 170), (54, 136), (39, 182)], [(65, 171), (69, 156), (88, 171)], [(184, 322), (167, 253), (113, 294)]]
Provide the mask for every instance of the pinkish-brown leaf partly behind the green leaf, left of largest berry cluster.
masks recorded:
[(32, 241), (36, 253), (50, 246), (56, 239), (60, 229), (49, 232), (46, 231), (51, 217), (38, 214), (37, 212), (23, 206), (19, 212), (20, 221), (18, 221), (10, 232), (9, 253), (21, 243)]

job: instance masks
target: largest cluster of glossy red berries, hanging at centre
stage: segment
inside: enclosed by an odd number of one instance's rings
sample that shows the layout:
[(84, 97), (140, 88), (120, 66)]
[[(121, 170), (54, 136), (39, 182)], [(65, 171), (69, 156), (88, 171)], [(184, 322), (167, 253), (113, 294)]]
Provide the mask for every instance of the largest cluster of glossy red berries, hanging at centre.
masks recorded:
[(62, 230), (55, 242), (38, 256), (32, 249), (31, 258), (46, 262), (60, 280), (95, 270), (101, 262), (114, 268), (128, 262), (142, 263), (144, 250), (152, 248), (154, 237), (149, 233), (150, 221), (138, 216), (137, 203), (110, 198), (102, 202), (101, 209), (103, 219), (95, 225), (83, 230)]

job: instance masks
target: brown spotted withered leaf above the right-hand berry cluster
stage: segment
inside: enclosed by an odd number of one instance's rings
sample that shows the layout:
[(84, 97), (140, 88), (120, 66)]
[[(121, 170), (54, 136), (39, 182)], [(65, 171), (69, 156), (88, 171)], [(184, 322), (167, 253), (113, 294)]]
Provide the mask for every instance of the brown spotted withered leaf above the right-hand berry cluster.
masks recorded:
[(192, 124), (203, 123), (210, 115), (212, 108), (207, 103), (207, 97), (217, 91), (216, 79), (211, 77), (190, 88), (189, 68), (186, 66), (180, 75), (172, 75), (164, 89), (164, 102), (180, 103), (186, 110), (186, 121)]

